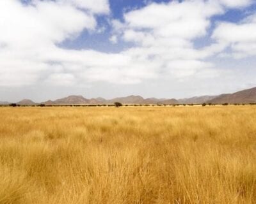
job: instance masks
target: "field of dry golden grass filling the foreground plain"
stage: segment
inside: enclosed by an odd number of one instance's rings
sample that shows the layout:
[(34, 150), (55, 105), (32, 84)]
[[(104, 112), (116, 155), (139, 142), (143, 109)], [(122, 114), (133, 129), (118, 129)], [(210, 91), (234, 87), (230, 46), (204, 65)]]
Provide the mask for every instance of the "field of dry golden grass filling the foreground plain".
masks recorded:
[(256, 203), (256, 106), (0, 108), (0, 203)]

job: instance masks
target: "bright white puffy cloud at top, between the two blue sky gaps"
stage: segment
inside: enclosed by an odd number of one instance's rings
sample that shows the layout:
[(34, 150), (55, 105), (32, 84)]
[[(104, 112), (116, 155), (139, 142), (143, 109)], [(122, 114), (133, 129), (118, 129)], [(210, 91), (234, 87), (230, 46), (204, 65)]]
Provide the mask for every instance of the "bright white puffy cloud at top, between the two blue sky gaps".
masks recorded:
[(134, 29), (153, 29), (159, 37), (193, 39), (204, 36), (211, 23), (209, 17), (222, 12), (220, 4), (212, 2), (152, 3), (126, 13), (125, 22)]

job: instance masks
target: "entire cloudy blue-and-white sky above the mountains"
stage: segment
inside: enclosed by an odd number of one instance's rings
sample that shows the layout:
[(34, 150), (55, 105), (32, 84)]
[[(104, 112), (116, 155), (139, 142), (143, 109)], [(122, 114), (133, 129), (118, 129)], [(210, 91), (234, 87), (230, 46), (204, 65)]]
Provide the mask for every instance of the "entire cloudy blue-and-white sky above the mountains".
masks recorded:
[(256, 87), (255, 0), (1, 0), (0, 101)]

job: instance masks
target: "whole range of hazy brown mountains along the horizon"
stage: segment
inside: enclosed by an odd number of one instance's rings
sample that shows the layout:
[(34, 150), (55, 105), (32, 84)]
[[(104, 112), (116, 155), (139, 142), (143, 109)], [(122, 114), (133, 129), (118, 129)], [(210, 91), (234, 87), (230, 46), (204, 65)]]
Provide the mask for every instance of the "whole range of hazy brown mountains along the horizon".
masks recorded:
[[(87, 99), (83, 96), (68, 96), (66, 98), (56, 99), (54, 101), (45, 101), (42, 104), (45, 105), (83, 105), (83, 104), (111, 104), (120, 102), (124, 104), (241, 104), (241, 103), (256, 103), (256, 87), (252, 89), (246, 89), (243, 91), (235, 92), (232, 94), (221, 94), (218, 96), (196, 96), (193, 98), (183, 99), (157, 99), (157, 98), (143, 98), (141, 96), (127, 96), (121, 98), (104, 99), (104, 98), (91, 98)], [(9, 104), (7, 101), (0, 101), (0, 105)], [(17, 103), (18, 105), (38, 105), (41, 103), (35, 103), (30, 99), (23, 99)]]

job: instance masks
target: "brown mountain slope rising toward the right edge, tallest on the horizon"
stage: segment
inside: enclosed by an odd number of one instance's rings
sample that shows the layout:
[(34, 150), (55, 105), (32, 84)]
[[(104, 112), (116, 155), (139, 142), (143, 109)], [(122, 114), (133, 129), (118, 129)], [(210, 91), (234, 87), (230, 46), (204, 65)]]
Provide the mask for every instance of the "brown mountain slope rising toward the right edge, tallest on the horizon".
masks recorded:
[(234, 94), (222, 94), (214, 99), (207, 101), (208, 103), (256, 103), (256, 87), (235, 92)]

